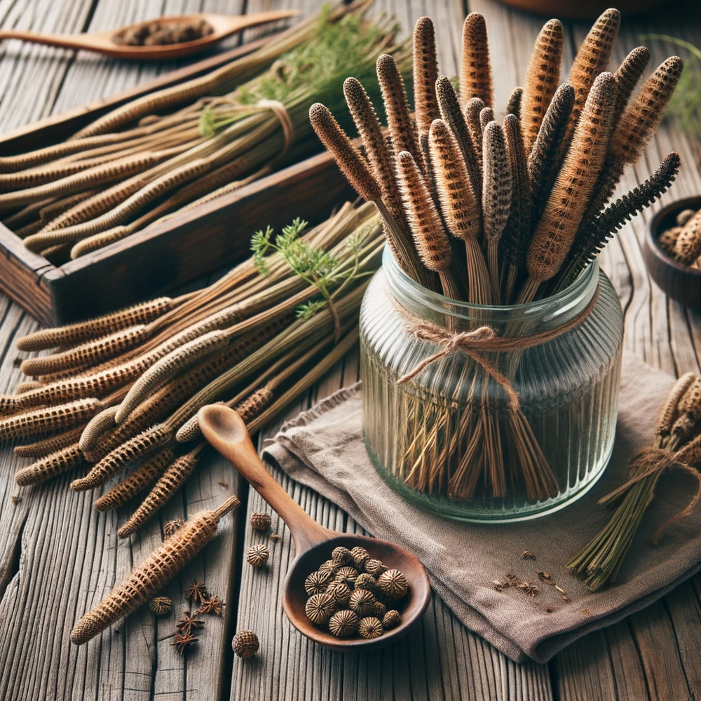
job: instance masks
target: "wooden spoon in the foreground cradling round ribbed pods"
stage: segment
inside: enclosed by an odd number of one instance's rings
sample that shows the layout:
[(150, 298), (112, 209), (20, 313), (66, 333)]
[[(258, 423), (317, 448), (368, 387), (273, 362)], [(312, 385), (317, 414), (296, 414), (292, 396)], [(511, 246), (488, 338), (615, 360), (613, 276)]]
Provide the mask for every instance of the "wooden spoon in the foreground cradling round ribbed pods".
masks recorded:
[[(250, 482), (253, 489), (285, 521), (292, 533), (295, 557), (285, 578), (283, 608), (287, 618), (299, 632), (329, 648), (365, 651), (395, 641), (418, 622), (428, 606), (431, 587), (426, 570), (414, 555), (386, 540), (329, 531), (315, 522), (266, 470), (253, 447), (245, 423), (233, 409), (222, 404), (210, 404), (200, 409), (198, 419), (207, 441)], [(409, 581), (409, 594), (399, 604), (402, 622), (396, 628), (384, 632), (379, 638), (336, 638), (315, 626), (304, 613), (308, 599), (304, 590), (304, 580), (310, 573), (319, 569), (322, 562), (331, 558), (331, 551), (338, 545), (343, 545), (349, 550), (356, 545), (365, 547), (371, 557), (380, 559), (390, 569), (402, 571)]]

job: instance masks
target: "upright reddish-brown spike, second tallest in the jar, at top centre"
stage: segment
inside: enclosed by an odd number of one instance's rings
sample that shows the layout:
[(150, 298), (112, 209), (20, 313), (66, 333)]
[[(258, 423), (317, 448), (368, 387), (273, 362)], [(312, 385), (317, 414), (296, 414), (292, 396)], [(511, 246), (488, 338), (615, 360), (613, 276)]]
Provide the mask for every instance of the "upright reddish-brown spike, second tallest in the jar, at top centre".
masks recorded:
[(460, 101), (463, 106), (468, 104), (472, 97), (479, 97), (489, 107), (494, 104), (486, 22), (477, 12), (470, 13), (463, 24), (460, 66)]

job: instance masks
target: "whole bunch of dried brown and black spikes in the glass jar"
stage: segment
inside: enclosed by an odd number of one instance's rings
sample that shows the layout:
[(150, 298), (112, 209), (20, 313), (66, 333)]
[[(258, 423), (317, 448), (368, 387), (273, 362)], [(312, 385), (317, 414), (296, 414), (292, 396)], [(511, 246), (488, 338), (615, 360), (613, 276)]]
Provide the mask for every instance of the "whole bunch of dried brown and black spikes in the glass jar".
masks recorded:
[[(346, 80), (346, 102), (364, 152), (331, 110), (313, 105), (315, 131), (348, 182), (376, 204), (388, 245), (409, 277), (473, 304), (542, 299), (570, 285), (608, 237), (667, 189), (679, 170), (676, 154), (606, 207), (624, 168), (638, 161), (658, 128), (683, 67), (679, 57), (670, 57), (630, 100), (649, 52), (634, 49), (618, 71), (606, 72), (619, 23), (616, 10), (601, 15), (568, 82), (558, 87), (564, 32), (558, 20), (547, 22), (503, 125), (494, 114), (486, 25), (477, 13), (465, 19), (459, 90), (439, 75), (430, 20), (418, 20), (413, 115), (393, 57), (379, 57), (386, 129), (362, 85)], [(464, 251), (455, 239), (463, 240)], [(510, 378), (519, 355), (504, 355), (489, 358)], [(431, 376), (440, 376), (441, 362), (433, 363)], [(485, 372), (465, 358), (461, 382), (472, 388), (481, 383), (482, 390), (468, 393), (461, 426), (450, 440), (443, 440), (446, 411), (407, 391), (404, 479), (458, 499), (474, 498), (478, 484), (487, 496), (503, 497), (514, 480), (524, 483), (531, 500), (554, 496), (557, 481), (528, 421), (514, 402), (506, 402), (503, 390), (494, 390), (494, 379), (477, 381)], [(495, 396), (502, 399), (490, 399)], [(458, 467), (450, 468), (456, 450), (464, 452)], [(517, 459), (506, 461), (507, 451)], [(506, 463), (517, 463), (515, 474), (507, 474)]]

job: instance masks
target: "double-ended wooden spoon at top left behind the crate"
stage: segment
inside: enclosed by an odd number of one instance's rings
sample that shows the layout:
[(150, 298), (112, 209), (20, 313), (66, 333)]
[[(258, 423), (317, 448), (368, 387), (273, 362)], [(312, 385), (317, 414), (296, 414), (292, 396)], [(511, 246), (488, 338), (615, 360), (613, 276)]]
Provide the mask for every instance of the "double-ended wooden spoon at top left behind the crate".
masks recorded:
[(182, 25), (184, 23), (197, 24), (201, 20), (207, 22), (214, 32), (201, 39), (183, 41), (181, 43), (162, 44), (158, 46), (128, 46), (117, 43), (118, 36), (129, 29), (147, 25), (149, 22), (137, 22), (135, 25), (113, 29), (110, 32), (97, 32), (95, 34), (36, 34), (36, 32), (20, 32), (15, 29), (3, 29), (0, 31), (0, 39), (21, 39), (34, 43), (48, 44), (48, 46), (60, 46), (62, 48), (86, 49), (97, 51), (107, 56), (117, 58), (143, 59), (167, 59), (187, 56), (209, 48), (217, 41), (226, 39), (227, 36), (240, 32), (247, 27), (264, 25), (266, 22), (285, 20), (294, 15), (299, 15), (297, 10), (275, 10), (271, 12), (257, 12), (250, 15), (212, 15), (200, 12), (193, 15), (181, 15), (174, 17), (161, 17), (158, 20), (163, 25)]

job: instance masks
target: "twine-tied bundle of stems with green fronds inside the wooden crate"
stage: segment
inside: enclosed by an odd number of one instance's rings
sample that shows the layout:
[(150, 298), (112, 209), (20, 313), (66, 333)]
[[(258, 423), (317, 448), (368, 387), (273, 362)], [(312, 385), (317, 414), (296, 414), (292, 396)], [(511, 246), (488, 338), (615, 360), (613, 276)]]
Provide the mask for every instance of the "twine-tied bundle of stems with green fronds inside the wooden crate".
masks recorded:
[[(372, 1), (372, 0), (370, 0)], [(0, 158), (0, 212), (54, 264), (237, 189), (318, 149), (315, 100), (370, 78), (395, 28), (341, 4), (222, 68), (120, 107), (67, 142)]]

